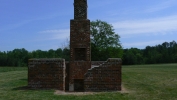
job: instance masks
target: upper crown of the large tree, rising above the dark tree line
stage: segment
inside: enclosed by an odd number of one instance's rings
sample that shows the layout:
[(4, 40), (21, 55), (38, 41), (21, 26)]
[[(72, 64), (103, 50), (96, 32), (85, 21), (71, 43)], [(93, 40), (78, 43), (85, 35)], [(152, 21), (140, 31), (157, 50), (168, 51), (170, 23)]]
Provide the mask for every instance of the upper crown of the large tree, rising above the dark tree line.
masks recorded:
[(90, 24), (92, 45), (99, 48), (122, 47), (120, 36), (114, 32), (111, 24), (101, 20), (92, 21)]

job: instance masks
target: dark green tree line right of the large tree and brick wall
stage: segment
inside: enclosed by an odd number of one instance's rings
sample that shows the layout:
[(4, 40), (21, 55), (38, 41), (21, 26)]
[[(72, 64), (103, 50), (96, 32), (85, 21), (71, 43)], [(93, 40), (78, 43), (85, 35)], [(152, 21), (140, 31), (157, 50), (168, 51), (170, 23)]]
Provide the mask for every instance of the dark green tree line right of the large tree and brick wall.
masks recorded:
[(123, 64), (177, 63), (177, 44), (175, 41), (161, 45), (147, 46), (145, 49), (124, 49)]

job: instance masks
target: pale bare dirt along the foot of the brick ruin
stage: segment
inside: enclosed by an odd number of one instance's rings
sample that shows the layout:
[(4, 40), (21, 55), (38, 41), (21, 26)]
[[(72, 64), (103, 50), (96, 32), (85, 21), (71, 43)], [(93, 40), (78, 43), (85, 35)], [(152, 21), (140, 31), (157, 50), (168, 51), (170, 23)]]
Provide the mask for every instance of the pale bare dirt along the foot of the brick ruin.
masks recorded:
[[(121, 91), (114, 91), (118, 93), (130, 93), (124, 86), (122, 86)], [(99, 94), (99, 93), (105, 93), (105, 92), (65, 92), (65, 91), (60, 91), (56, 90), (54, 94), (56, 95), (94, 95), (94, 94)]]

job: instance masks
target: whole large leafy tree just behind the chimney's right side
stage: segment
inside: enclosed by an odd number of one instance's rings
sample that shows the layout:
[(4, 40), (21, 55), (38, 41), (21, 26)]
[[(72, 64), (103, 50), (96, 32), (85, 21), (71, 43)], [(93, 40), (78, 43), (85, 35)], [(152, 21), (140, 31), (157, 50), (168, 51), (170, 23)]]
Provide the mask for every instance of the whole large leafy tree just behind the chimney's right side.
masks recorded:
[(114, 32), (113, 26), (105, 21), (96, 20), (90, 23), (92, 60), (122, 57), (123, 50), (120, 36)]

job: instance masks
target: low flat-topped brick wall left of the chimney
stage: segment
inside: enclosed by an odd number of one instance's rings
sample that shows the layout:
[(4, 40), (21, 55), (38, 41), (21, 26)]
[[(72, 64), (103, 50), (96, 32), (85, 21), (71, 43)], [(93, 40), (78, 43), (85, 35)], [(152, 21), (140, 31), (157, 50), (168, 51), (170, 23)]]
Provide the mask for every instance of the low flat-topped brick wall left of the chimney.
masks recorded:
[(65, 60), (29, 59), (28, 87), (65, 90)]

